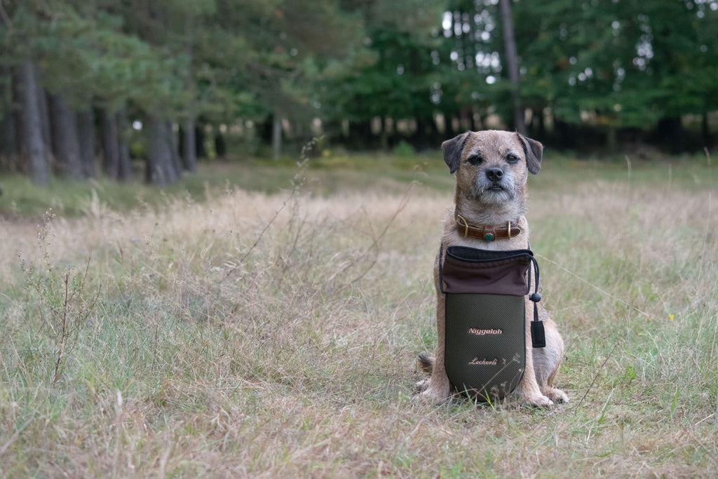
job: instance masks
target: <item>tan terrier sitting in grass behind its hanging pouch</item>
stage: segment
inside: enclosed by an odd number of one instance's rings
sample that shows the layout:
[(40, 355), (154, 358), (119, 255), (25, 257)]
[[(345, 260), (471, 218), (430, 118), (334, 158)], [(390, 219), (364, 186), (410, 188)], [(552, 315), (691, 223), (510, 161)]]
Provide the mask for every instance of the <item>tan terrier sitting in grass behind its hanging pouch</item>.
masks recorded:
[[(450, 172), (456, 174), (456, 190), (454, 208), (444, 215), (442, 248), (434, 262), (437, 349), (433, 357), (419, 356), (419, 366), (431, 373), (428, 380), (417, 384), (423, 389), (421, 397), (425, 399), (439, 403), (452, 395), (444, 367), (445, 297), (439, 284), (439, 265), (444, 258), (441, 255), (445, 255), (449, 246), (493, 251), (528, 249), (529, 230), (524, 216), (528, 198), (526, 180), (529, 173), (538, 175), (543, 151), (538, 141), (510, 131), (467, 131), (442, 143), (444, 161)], [(483, 231), (490, 231), (490, 235), (482, 236)], [(533, 407), (566, 403), (567, 394), (553, 386), (564, 356), (564, 341), (556, 324), (538, 303), (546, 347), (533, 348), (529, 324), (533, 320), (533, 303), (528, 295), (524, 301), (526, 364), (513, 392)]]

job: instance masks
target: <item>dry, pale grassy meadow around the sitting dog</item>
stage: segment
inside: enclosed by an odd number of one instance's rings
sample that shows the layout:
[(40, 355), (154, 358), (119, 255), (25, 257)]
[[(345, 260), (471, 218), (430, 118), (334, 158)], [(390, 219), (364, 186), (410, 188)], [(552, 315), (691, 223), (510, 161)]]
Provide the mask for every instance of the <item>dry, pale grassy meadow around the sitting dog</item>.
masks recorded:
[(414, 400), (452, 200), (416, 163), (205, 167), (164, 195), (0, 178), (0, 475), (718, 475), (709, 159), (531, 177), (571, 397), (545, 410)]

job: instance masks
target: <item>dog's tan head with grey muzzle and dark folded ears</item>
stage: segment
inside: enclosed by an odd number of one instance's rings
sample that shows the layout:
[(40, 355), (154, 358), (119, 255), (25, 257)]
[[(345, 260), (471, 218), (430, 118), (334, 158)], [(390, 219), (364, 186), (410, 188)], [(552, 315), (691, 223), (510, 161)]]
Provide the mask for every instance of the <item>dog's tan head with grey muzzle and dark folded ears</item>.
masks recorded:
[(485, 205), (521, 202), (528, 173), (538, 175), (544, 147), (510, 131), (467, 131), (442, 143), (459, 194)]

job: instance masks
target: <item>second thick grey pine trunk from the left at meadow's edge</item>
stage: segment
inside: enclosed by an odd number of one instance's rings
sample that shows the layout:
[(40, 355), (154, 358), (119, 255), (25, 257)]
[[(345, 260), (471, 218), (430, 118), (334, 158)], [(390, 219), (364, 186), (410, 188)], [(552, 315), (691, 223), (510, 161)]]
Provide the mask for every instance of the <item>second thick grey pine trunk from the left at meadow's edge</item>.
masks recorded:
[(75, 180), (85, 177), (80, 160), (78, 141), (78, 116), (62, 98), (62, 94), (50, 95), (50, 126), (52, 128), (52, 152), (63, 175)]

